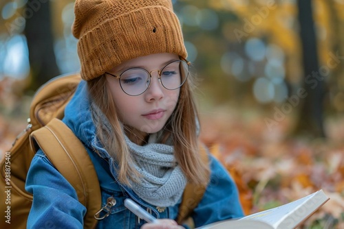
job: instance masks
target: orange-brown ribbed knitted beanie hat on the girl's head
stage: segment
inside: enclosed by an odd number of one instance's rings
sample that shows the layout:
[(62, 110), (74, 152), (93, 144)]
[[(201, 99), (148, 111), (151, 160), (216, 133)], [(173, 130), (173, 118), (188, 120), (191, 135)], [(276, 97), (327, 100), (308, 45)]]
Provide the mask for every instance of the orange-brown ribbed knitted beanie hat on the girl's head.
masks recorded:
[(171, 0), (76, 0), (74, 13), (72, 32), (84, 80), (140, 56), (187, 56)]

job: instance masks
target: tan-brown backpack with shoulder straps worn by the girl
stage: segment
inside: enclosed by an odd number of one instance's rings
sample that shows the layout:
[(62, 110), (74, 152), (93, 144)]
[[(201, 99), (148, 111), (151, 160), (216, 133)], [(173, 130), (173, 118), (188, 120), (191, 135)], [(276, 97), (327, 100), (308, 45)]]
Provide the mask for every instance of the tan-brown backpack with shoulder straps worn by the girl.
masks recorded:
[[(61, 121), (65, 106), (81, 80), (78, 74), (61, 75), (43, 84), (32, 99), (28, 126), (14, 140), (0, 162), (0, 228), (26, 228), (33, 197), (25, 191), (31, 160), (41, 148), (54, 167), (76, 189), (78, 200), (87, 208), (84, 228), (95, 228), (94, 215), (102, 208), (96, 171), (83, 143)], [(208, 163), (206, 149), (201, 156)], [(92, 187), (92, 188), (91, 188)], [(202, 199), (205, 186), (187, 184), (178, 223), (182, 224)], [(5, 195), (3, 195), (5, 193)]]

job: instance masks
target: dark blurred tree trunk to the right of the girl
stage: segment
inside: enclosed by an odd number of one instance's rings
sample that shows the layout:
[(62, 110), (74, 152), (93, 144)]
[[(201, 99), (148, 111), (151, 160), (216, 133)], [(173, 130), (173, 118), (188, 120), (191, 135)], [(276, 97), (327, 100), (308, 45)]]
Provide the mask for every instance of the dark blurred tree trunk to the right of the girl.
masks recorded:
[[(312, 16), (312, 0), (298, 0), (300, 38), (302, 47), (304, 84), (307, 96), (301, 103), (296, 134), (324, 137), (323, 97), (324, 80), (319, 73), (319, 60), (316, 49), (316, 35)], [(311, 81), (312, 80), (312, 81)]]

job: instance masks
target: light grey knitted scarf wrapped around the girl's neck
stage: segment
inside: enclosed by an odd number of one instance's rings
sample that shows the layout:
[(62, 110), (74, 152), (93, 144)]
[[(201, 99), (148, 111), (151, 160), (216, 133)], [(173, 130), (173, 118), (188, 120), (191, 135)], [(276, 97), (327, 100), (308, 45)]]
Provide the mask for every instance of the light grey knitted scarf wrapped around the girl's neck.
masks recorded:
[[(101, 121), (106, 130), (111, 130), (108, 119), (93, 103), (92, 116), (95, 123)], [(125, 141), (136, 161), (133, 166), (142, 174), (140, 182), (131, 182), (131, 188), (149, 204), (158, 207), (173, 206), (182, 197), (186, 186), (186, 177), (178, 163), (175, 162), (172, 144), (156, 143), (158, 135), (159, 132), (151, 134), (148, 144), (143, 146), (136, 145), (125, 136)]]

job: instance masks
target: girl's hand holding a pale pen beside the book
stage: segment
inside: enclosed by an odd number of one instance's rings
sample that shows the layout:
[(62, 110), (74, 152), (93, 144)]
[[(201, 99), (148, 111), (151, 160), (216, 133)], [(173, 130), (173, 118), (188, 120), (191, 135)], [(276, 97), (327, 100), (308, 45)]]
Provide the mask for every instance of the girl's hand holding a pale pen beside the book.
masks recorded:
[(146, 210), (141, 208), (138, 204), (130, 199), (125, 199), (125, 207), (128, 208), (132, 213), (147, 221), (148, 224), (144, 224), (142, 229), (180, 229), (182, 226), (178, 226), (177, 222), (173, 219), (156, 219), (153, 215), (149, 214)]

